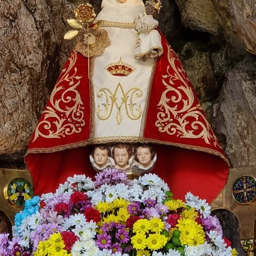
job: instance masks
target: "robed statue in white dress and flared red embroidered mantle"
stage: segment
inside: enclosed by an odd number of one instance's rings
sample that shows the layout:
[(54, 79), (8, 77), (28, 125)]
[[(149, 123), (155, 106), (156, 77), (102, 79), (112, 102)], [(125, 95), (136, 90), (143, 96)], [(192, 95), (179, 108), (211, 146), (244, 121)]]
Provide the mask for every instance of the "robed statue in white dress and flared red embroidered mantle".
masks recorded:
[(25, 157), (34, 192), (94, 176), (92, 145), (140, 142), (154, 144), (154, 173), (175, 198), (191, 191), (212, 201), (227, 180), (225, 154), (158, 22), (142, 0), (119, 1), (103, 0), (94, 20), (108, 38), (96, 36), (103, 53), (90, 57), (90, 74), (76, 45), (35, 127)]

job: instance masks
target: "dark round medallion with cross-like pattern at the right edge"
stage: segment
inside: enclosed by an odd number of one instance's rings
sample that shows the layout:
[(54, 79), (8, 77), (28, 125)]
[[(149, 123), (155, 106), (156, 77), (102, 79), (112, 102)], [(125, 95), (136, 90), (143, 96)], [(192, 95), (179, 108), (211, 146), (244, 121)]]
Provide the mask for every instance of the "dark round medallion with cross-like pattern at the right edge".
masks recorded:
[(232, 188), (234, 200), (241, 204), (251, 203), (255, 198), (256, 180), (251, 176), (242, 176), (237, 179)]

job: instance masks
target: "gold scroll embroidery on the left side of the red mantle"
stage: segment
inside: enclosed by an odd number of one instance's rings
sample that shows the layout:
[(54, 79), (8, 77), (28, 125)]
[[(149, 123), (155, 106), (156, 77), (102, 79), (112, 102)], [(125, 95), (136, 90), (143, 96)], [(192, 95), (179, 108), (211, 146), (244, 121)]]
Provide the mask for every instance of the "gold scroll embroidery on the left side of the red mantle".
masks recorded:
[[(68, 59), (69, 65), (62, 70), (52, 91), (50, 102), (42, 112), (44, 120), (37, 124), (32, 142), (40, 136), (51, 139), (81, 132), (81, 126), (84, 126), (85, 122), (82, 111), (83, 102), (77, 91), (81, 76), (76, 75), (76, 67), (73, 69), (76, 59), (76, 52), (73, 52)], [(63, 86), (63, 84), (68, 84), (68, 86)]]

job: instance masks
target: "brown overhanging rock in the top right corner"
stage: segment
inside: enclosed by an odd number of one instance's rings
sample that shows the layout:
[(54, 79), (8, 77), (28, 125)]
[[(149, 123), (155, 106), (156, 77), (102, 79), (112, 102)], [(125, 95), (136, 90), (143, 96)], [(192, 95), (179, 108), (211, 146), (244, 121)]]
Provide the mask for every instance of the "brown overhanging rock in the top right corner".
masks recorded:
[(230, 44), (233, 58), (245, 49), (256, 54), (256, 13), (254, 0), (175, 0), (182, 23), (193, 30), (219, 35)]

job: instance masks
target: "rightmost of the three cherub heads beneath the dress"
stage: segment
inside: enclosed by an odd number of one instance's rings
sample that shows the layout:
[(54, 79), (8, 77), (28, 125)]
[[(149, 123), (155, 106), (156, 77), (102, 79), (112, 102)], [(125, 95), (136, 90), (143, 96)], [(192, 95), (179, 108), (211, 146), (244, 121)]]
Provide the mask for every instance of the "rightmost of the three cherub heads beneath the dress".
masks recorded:
[(150, 166), (156, 152), (151, 145), (139, 144), (134, 148), (134, 160), (139, 162), (144, 168)]

